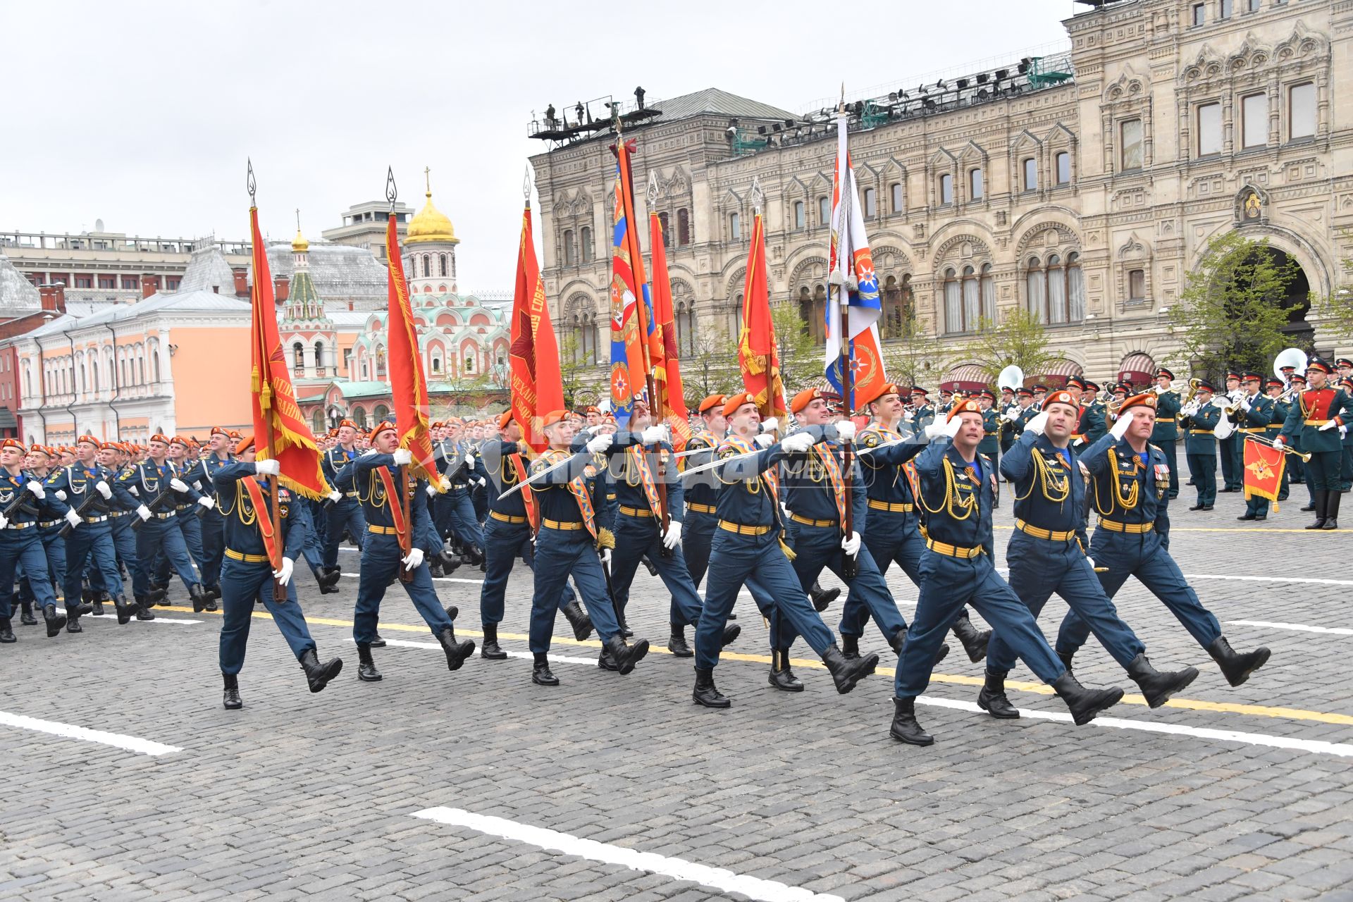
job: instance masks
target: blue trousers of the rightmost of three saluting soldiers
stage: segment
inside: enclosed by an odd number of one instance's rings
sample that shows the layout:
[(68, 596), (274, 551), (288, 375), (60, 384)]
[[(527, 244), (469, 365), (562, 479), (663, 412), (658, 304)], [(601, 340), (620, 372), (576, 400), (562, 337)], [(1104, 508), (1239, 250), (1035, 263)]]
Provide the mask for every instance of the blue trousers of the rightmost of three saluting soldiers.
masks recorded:
[[(1091, 538), (1091, 557), (1100, 567), (1108, 568), (1096, 576), (1109, 598), (1118, 594), (1128, 576), (1135, 576), (1155, 598), (1165, 602), (1165, 607), (1170, 609), (1199, 645), (1207, 648), (1222, 634), (1222, 625), (1197, 600), (1197, 592), (1184, 579), (1178, 564), (1154, 531), (1132, 536), (1097, 529)], [(1074, 610), (1066, 611), (1057, 633), (1057, 650), (1074, 653), (1088, 636), (1085, 621)]]

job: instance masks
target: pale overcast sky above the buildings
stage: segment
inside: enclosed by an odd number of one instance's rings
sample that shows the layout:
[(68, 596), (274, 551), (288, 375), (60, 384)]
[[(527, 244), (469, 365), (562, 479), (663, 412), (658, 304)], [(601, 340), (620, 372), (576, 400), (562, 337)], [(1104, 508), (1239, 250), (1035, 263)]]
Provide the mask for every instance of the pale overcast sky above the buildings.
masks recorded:
[[(1072, 0), (133, 3), (0, 0), (0, 231), (248, 233), (433, 199), (461, 291), (513, 284), (532, 111), (717, 87), (805, 112), (839, 92), (1065, 41)], [(828, 16), (839, 15), (831, 22)], [(829, 35), (839, 34), (839, 46)], [(598, 110), (593, 115), (598, 115)]]

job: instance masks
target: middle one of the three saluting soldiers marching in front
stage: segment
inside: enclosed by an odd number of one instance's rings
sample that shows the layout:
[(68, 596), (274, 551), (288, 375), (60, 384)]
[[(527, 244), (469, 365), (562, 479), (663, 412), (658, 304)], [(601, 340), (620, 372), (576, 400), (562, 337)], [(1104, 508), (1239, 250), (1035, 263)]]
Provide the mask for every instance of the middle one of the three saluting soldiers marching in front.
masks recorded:
[[(1154, 396), (1147, 398), (1154, 402)], [(1132, 412), (1126, 400), (1109, 434), (1088, 448), (1086, 456), (1103, 454), (1127, 431)], [(1015, 531), (1005, 549), (1009, 584), (1035, 619), (1057, 592), (1141, 687), (1147, 705), (1160, 707), (1197, 679), (1197, 671), (1189, 667), (1161, 673), (1151, 667), (1146, 645), (1119, 618), (1114, 602), (1095, 579), (1093, 561), (1085, 556), (1089, 542), (1081, 513), (1086, 504), (1086, 485), (1078, 454), (1070, 448), (1078, 415), (1069, 392), (1053, 392), (1020, 441), (1001, 458), (1001, 472), (1012, 483), (1015, 495)], [(978, 707), (992, 717), (1019, 717), (1019, 710), (1005, 696), (1005, 675), (1013, 665), (1015, 650), (997, 633), (986, 657), (986, 683), (977, 695)]]

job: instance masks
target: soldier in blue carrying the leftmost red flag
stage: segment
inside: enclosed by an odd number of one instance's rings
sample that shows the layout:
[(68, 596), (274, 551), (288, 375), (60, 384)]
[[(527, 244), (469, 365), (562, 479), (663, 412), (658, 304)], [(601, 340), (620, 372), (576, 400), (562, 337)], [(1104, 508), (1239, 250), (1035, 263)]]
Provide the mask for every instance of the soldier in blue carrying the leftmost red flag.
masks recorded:
[[(310, 637), (296, 600), (296, 587), (291, 581), (304, 542), (303, 533), (310, 529), (308, 514), (288, 490), (280, 487), (277, 510), (273, 510), (267, 480), (277, 477), (277, 461), (254, 461), (252, 438), (241, 442), (239, 453), (239, 461), (214, 468), (211, 477), (212, 491), (221, 499), (226, 540), (221, 569), (221, 603), (226, 610), (221, 623), (219, 660), (225, 682), (222, 702), (230, 710), (244, 707), (238, 675), (245, 665), (256, 602), (268, 609), (291, 653), (300, 661), (311, 692), (325, 688), (342, 669), (340, 657), (319, 663), (315, 640)], [(281, 567), (273, 569), (272, 560), (279, 549)], [(275, 600), (273, 580), (287, 587), (284, 600)]]

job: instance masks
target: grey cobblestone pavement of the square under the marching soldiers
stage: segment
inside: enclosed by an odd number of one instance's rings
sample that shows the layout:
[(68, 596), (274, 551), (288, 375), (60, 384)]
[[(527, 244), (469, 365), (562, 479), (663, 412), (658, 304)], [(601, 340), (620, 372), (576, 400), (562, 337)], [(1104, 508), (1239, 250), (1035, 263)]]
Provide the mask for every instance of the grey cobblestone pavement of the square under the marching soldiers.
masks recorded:
[[(739, 655), (717, 671), (733, 707), (691, 705), (690, 661), (659, 650), (667, 596), (643, 571), (630, 621), (655, 653), (621, 678), (597, 669), (595, 641), (556, 638), (557, 688), (529, 682), (522, 568), (502, 627), (518, 656), (448, 673), (392, 587), (382, 633), (414, 645), (377, 649), (376, 684), (356, 678), (356, 580), (319, 596), (298, 571), (321, 656), (348, 667), (308, 694), (258, 615), (242, 711), (221, 707), (219, 615), (176, 606), (53, 640), (16, 626), (19, 642), (0, 646), (0, 898), (1350, 898), (1353, 530), (1300, 531), (1298, 494), (1250, 529), (1237, 495), (1212, 513), (1173, 506), (1174, 553), (1231, 642), (1273, 649), (1249, 683), (1230, 688), (1130, 581), (1119, 606), (1155, 664), (1201, 669), (1184, 696), (1074, 728), (1031, 717), (1065, 709), (1022, 668), (1011, 696), (1026, 717), (997, 722), (973, 709), (981, 664), (955, 648), (917, 709), (936, 737), (924, 749), (888, 738), (890, 653), (846, 696), (809, 661), (805, 692), (767, 687), (750, 599)], [(997, 522), (1004, 552), (1008, 508)], [(356, 569), (356, 554), (342, 560)], [(472, 638), (479, 576), (463, 567), (437, 583)], [(915, 587), (896, 569), (889, 583), (909, 615)], [(1049, 604), (1046, 633), (1063, 610)], [(886, 652), (877, 632), (866, 645)], [(1093, 642), (1077, 671), (1132, 688)], [(146, 755), (8, 715), (175, 748)], [(625, 849), (651, 855), (632, 870), (614, 863)]]

